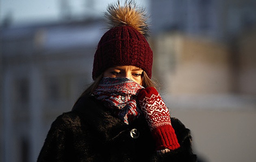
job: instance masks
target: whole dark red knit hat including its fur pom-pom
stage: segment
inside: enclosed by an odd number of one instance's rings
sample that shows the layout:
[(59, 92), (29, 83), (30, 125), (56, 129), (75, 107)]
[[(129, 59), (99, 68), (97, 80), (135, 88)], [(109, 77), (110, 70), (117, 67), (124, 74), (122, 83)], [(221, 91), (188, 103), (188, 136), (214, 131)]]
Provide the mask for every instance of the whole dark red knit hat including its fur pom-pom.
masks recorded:
[(153, 52), (146, 40), (148, 24), (145, 10), (132, 1), (124, 6), (108, 6), (105, 14), (109, 30), (102, 36), (94, 55), (92, 77), (95, 80), (107, 68), (132, 65), (152, 76)]

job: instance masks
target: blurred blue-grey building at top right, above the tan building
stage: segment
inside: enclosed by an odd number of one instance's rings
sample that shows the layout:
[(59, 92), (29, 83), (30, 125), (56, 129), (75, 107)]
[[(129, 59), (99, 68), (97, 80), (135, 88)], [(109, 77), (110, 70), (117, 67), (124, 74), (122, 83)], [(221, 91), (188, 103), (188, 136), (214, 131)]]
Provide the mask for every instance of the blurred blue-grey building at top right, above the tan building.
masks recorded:
[(154, 33), (181, 31), (230, 41), (256, 23), (255, 0), (151, 0)]

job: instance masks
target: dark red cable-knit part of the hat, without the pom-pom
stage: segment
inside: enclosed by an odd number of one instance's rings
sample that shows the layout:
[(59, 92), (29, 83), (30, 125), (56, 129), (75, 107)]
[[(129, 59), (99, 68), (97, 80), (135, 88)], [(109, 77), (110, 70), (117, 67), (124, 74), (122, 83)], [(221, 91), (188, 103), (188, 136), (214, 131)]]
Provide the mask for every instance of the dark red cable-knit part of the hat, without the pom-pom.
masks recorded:
[(146, 38), (130, 26), (108, 30), (100, 39), (94, 55), (93, 79), (114, 66), (132, 65), (142, 68), (151, 78), (153, 52)]

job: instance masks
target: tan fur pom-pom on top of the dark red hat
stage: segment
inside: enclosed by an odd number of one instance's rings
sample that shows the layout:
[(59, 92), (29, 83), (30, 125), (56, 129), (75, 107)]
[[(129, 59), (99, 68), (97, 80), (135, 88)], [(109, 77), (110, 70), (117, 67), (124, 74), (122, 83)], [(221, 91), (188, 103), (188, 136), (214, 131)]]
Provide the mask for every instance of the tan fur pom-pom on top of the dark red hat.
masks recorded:
[(108, 28), (131, 26), (146, 38), (149, 35), (145, 9), (138, 8), (133, 0), (126, 0), (124, 6), (121, 6), (119, 1), (117, 4), (110, 4), (105, 16), (108, 20)]

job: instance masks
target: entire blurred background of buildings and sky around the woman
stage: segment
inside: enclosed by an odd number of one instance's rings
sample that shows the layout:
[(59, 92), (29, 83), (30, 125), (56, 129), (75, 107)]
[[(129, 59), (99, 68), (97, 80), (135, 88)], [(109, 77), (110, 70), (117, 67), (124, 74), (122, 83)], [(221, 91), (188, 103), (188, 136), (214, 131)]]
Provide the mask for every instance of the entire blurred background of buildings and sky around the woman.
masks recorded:
[[(0, 162), (35, 162), (92, 82), (110, 2), (0, 1)], [(200, 162), (255, 162), (256, 0), (136, 2), (150, 15), (153, 79)]]

